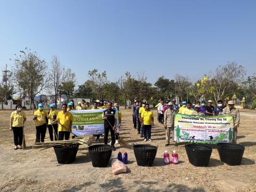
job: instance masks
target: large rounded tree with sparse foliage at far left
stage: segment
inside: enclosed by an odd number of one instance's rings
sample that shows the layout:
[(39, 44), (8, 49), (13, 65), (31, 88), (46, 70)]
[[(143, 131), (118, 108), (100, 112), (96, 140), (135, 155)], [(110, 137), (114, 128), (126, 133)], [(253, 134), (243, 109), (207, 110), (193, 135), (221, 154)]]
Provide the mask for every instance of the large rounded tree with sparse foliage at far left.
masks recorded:
[(27, 47), (25, 51), (20, 51), (20, 55), (14, 55), (14, 75), (17, 85), (21, 92), (28, 93), (30, 109), (32, 104), (35, 108), (35, 95), (43, 91), (49, 81), (46, 62), (40, 59), (37, 52), (31, 52)]

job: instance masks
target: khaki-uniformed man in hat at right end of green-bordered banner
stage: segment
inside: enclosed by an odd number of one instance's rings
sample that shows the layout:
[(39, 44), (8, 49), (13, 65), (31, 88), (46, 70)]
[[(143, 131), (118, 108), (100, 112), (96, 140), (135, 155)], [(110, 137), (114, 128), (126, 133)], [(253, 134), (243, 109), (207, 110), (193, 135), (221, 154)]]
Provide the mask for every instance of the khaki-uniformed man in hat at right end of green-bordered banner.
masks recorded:
[(240, 113), (237, 108), (234, 107), (234, 101), (228, 101), (228, 107), (225, 107), (221, 115), (232, 115), (234, 117), (234, 127), (233, 127), (233, 140), (232, 143), (236, 143), (237, 137), (237, 127), (240, 122)]

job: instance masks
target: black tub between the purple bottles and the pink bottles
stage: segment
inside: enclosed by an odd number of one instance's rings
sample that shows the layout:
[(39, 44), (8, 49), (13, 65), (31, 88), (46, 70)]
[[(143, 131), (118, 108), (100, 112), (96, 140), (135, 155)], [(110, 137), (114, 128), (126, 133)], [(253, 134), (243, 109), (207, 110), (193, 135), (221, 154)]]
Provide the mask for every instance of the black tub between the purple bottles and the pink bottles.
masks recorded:
[(156, 157), (157, 147), (151, 145), (134, 145), (134, 155), (139, 166), (152, 166)]

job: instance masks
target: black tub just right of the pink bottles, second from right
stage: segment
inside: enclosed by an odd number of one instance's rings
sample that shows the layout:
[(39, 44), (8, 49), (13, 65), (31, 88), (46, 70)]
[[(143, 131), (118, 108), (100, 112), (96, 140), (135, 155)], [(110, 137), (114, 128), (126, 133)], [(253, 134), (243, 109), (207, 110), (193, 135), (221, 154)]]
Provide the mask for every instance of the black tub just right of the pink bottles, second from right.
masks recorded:
[(188, 161), (194, 166), (208, 166), (212, 148), (201, 144), (186, 144)]

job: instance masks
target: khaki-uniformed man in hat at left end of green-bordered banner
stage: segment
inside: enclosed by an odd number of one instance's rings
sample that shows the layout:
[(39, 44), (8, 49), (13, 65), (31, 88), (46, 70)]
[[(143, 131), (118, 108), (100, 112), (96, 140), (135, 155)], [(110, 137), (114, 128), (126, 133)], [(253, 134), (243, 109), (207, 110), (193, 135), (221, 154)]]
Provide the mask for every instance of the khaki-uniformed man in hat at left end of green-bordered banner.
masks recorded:
[(173, 104), (168, 103), (169, 108), (164, 112), (164, 129), (165, 129), (165, 147), (170, 145), (170, 134), (172, 132), (172, 139), (174, 139), (174, 115), (177, 114), (173, 110)]

